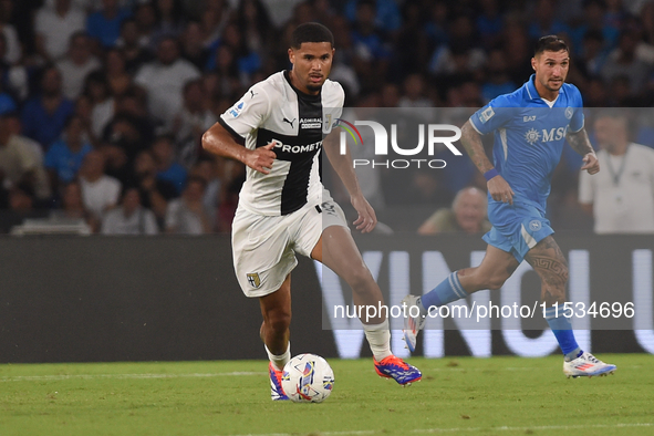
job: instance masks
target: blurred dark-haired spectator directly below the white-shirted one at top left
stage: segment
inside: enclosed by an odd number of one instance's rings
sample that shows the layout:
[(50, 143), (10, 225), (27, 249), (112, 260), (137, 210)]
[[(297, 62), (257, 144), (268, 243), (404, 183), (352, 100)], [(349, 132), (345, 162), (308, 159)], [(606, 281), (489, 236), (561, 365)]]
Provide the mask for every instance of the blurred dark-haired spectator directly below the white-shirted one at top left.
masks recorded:
[(100, 61), (91, 54), (91, 40), (86, 33), (74, 33), (68, 55), (56, 63), (63, 80), (63, 95), (69, 100), (77, 98), (89, 73), (100, 66)]

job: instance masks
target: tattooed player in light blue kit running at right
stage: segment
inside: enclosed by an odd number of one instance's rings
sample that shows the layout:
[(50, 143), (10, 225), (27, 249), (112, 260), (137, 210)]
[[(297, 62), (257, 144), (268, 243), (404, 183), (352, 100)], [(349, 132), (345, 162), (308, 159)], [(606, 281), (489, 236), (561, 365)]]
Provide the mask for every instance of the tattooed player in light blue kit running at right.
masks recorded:
[[(538, 41), (531, 66), (536, 72), (517, 91), (500, 95), (475, 113), (461, 128), (461, 144), (488, 180), (488, 218), (492, 229), (484, 236), (486, 256), (477, 268), (453, 272), (422, 298), (407, 295), (404, 339), (413, 352), (417, 332), (428, 310), (466, 298), (482, 289), (499, 289), (527, 260), (542, 282), (541, 300), (546, 320), (564, 355), (568, 376), (613, 373), (610, 365), (582, 351), (574, 339), (564, 310), (568, 264), (552, 238), (546, 218), (552, 173), (565, 139), (583, 156), (581, 169), (596, 174), (600, 164), (583, 128), (583, 105), (579, 90), (565, 83), (570, 50), (557, 37)], [(490, 163), (481, 135), (495, 135)], [(418, 311), (411, 308), (417, 305)], [(417, 314), (412, 316), (411, 314)]]

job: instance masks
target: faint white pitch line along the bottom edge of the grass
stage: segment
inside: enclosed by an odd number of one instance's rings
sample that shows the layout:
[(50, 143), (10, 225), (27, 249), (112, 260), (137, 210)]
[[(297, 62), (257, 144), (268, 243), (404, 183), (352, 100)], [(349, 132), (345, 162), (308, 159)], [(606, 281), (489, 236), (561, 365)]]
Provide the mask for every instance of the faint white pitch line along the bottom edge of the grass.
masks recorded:
[[(455, 428), (417, 428), (407, 430), (411, 433), (459, 433), (459, 432), (527, 432), (527, 430), (565, 430), (579, 428), (627, 428), (627, 427), (652, 427), (654, 423), (626, 423), (626, 424), (589, 424), (589, 425), (540, 425), (531, 427), (455, 427)], [(351, 432), (311, 432), (320, 436), (347, 436), (347, 435), (373, 435), (383, 434), (384, 430), (351, 430)], [(218, 435), (216, 435), (218, 436)], [(248, 433), (247, 435), (232, 436), (298, 436), (298, 433)]]

